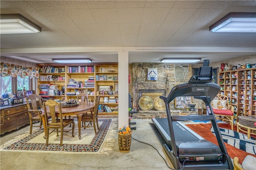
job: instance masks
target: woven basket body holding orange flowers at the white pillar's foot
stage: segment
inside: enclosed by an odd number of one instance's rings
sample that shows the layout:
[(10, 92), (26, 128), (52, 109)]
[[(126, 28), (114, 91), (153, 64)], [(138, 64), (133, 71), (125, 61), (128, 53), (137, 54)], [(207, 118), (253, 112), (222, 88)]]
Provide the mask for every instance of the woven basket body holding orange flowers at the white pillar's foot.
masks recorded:
[(120, 152), (130, 152), (132, 144), (132, 133), (118, 134), (118, 145)]

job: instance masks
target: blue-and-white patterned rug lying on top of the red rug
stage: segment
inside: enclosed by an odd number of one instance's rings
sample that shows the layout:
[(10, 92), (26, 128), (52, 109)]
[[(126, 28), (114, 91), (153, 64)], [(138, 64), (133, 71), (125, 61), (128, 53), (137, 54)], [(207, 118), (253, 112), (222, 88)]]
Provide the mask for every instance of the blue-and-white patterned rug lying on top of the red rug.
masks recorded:
[[(248, 139), (246, 134), (238, 133), (226, 128), (219, 129), (224, 142), (250, 154), (256, 154), (255, 138), (251, 137)], [(211, 131), (215, 135), (213, 128), (211, 128)]]

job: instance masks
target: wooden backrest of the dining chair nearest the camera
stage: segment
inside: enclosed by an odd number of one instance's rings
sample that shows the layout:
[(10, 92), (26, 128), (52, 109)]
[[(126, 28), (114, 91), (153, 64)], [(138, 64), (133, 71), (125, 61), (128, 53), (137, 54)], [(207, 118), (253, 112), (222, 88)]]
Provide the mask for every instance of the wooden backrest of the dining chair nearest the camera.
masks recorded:
[[(48, 110), (47, 110), (48, 107)], [(43, 103), (43, 108), (44, 108), (44, 118), (47, 120), (47, 125), (50, 126), (60, 126), (63, 125), (63, 118), (62, 118), (62, 110), (61, 110), (61, 103), (56, 102), (54, 100), (47, 100)], [(59, 117), (60, 117), (60, 123), (57, 123), (56, 119), (56, 110), (59, 110)], [(49, 122), (47, 119), (47, 114), (51, 115), (52, 121)]]

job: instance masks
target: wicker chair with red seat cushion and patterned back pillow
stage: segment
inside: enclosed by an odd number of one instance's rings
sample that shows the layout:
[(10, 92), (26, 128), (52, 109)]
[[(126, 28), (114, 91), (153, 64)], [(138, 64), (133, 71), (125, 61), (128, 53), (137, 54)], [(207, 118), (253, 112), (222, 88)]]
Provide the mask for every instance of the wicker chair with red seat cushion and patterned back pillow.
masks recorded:
[(225, 95), (218, 94), (216, 99), (212, 101), (212, 111), (216, 119), (222, 121), (228, 121), (233, 130), (233, 120), (234, 120), (234, 106), (229, 104), (228, 97)]

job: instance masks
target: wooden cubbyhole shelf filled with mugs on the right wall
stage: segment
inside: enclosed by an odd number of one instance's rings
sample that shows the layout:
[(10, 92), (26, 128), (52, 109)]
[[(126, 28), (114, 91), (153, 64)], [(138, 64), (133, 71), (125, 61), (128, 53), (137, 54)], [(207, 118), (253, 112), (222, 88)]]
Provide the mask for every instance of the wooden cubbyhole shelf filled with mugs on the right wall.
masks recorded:
[(230, 97), (236, 117), (256, 115), (256, 68), (220, 71), (219, 82), (220, 93)]

